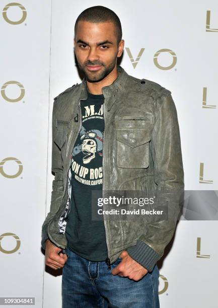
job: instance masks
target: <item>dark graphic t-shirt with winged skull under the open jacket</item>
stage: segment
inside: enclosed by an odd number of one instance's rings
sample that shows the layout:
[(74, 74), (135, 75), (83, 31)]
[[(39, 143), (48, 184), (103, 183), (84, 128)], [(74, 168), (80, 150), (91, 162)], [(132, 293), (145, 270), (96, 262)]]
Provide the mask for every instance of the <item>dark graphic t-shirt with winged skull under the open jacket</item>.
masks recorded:
[(81, 101), (82, 127), (72, 150), (71, 210), (65, 235), (67, 248), (90, 261), (107, 258), (103, 220), (92, 220), (92, 190), (102, 190), (104, 96), (88, 92)]

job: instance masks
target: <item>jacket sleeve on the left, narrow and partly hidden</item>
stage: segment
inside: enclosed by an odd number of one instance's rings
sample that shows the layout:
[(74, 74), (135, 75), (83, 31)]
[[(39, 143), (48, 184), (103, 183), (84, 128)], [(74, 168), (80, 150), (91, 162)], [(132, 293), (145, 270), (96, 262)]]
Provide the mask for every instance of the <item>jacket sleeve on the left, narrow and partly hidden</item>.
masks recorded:
[(63, 195), (63, 166), (61, 159), (61, 152), (56, 143), (54, 137), (57, 132), (56, 128), (56, 104), (57, 100), (54, 100), (52, 110), (52, 157), (51, 157), (51, 171), (54, 174), (54, 180), (52, 181), (51, 203), (50, 211), (47, 214), (42, 224), (42, 240), (41, 246), (45, 249), (45, 241), (48, 239), (47, 227), (51, 218), (55, 215), (59, 208), (60, 201)]

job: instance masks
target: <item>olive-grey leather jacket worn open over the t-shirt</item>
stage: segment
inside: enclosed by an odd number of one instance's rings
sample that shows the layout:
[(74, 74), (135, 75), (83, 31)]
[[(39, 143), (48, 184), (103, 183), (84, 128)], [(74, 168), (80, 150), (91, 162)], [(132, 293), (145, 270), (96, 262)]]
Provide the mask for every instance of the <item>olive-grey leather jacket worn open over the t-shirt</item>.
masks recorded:
[[(111, 220), (104, 217), (108, 268), (127, 250), (152, 271), (171, 241), (184, 191), (184, 172), (177, 111), (171, 92), (137, 79), (117, 65), (119, 75), (102, 88), (104, 95), (104, 191), (156, 191), (168, 204), (168, 219)], [(66, 248), (65, 226), (70, 211), (72, 148), (82, 126), (80, 103), (87, 99), (84, 78), (54, 98), (52, 112), (52, 182), (50, 212), (42, 225), (45, 241)], [(178, 193), (182, 192), (181, 194)], [(167, 203), (166, 203), (167, 202)], [(105, 216), (105, 214), (104, 214)]]

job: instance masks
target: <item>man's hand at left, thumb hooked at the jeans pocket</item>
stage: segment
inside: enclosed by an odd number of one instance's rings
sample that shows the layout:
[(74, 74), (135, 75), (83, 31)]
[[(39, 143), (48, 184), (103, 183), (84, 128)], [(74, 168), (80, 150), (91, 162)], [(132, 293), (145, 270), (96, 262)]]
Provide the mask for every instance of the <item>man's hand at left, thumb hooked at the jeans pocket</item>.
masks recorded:
[(62, 268), (67, 261), (67, 255), (62, 253), (58, 255), (61, 248), (55, 246), (50, 240), (46, 240), (45, 245), (45, 265), (53, 269)]

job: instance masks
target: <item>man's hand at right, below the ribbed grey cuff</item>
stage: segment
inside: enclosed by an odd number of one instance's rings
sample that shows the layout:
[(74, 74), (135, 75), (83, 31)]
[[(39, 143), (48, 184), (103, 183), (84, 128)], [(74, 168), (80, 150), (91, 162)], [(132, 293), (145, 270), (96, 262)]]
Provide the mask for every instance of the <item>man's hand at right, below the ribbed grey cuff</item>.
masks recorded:
[(138, 281), (148, 273), (148, 270), (133, 260), (126, 250), (121, 253), (120, 257), (122, 261), (112, 270), (113, 275), (118, 274), (120, 277), (128, 277)]

